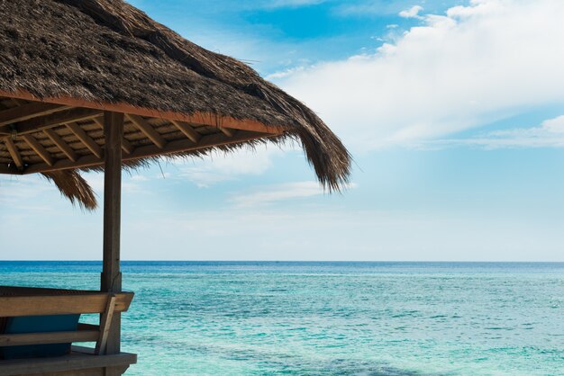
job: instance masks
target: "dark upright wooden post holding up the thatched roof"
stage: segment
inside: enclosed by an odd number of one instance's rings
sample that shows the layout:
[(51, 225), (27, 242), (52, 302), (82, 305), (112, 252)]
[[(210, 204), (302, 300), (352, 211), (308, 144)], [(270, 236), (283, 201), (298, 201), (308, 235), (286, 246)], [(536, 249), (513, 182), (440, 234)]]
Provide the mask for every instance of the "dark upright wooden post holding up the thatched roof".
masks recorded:
[[(122, 138), (123, 113), (104, 112), (104, 265), (101, 291), (121, 292), (120, 225), (122, 206)], [(119, 354), (121, 314), (112, 318), (105, 354)]]

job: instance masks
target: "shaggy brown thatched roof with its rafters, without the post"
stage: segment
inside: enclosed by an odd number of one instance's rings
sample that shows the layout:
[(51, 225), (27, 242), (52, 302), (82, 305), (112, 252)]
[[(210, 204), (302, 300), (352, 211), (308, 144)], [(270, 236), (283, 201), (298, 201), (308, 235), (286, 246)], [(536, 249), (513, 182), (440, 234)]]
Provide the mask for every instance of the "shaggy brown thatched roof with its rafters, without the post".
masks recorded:
[(350, 155), (323, 121), (240, 61), (122, 0), (0, 0), (0, 173), (47, 175), (92, 207), (77, 174), (100, 168), (103, 111), (126, 113), (123, 159), (297, 139), (339, 189)]

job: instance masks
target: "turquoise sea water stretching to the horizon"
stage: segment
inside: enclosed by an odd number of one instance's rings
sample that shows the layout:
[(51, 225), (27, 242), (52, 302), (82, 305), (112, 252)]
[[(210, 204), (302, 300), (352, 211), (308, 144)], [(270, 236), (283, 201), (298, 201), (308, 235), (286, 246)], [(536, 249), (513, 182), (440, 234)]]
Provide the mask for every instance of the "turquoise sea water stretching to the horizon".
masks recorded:
[[(0, 262), (96, 289), (99, 263)], [(564, 374), (564, 264), (124, 262), (129, 375)]]

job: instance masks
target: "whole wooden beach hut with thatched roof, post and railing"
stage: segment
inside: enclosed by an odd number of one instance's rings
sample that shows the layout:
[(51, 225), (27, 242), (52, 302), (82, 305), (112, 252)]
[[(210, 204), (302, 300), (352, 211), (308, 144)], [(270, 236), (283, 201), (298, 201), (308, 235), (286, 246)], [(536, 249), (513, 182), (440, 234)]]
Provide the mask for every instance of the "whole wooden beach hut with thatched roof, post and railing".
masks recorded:
[(0, 360), (0, 375), (122, 374), (135, 363), (120, 350), (120, 315), (132, 300), (120, 272), (123, 168), (288, 139), (303, 146), (329, 191), (347, 182), (350, 155), (341, 141), (240, 61), (196, 46), (122, 0), (0, 0), (0, 174), (45, 175), (94, 209), (80, 172), (105, 173), (100, 291), (0, 288), (0, 318), (101, 315), (99, 326), (37, 333), (3, 333), (0, 321), (0, 349), (88, 341), (96, 348)]

